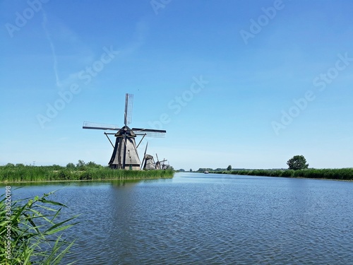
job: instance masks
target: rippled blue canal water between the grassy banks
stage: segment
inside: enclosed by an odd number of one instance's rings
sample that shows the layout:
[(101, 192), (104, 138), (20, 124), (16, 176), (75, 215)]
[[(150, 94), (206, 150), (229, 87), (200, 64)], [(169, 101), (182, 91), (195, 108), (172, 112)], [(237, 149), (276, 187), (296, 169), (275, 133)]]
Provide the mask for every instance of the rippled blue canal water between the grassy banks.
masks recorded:
[(353, 182), (177, 173), (31, 184), (81, 214), (62, 264), (353, 264)]

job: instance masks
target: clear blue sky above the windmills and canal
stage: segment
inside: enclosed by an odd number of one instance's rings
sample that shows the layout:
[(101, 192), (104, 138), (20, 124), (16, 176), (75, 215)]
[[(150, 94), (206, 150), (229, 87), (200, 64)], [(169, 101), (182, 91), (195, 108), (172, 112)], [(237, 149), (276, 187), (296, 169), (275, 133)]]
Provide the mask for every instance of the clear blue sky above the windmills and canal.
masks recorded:
[[(175, 168), (353, 166), (352, 1), (4, 0), (0, 165), (107, 165), (84, 121), (165, 129)], [(142, 155), (147, 141), (141, 143)]]

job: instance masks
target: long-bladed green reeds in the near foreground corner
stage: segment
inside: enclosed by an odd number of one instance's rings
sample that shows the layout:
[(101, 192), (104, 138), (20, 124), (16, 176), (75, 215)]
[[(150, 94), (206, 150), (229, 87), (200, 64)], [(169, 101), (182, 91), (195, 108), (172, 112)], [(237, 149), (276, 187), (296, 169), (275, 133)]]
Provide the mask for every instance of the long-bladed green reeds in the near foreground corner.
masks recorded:
[(67, 242), (62, 232), (76, 224), (69, 221), (77, 216), (56, 221), (66, 206), (48, 200), (53, 193), (11, 201), (11, 216), (6, 215), (6, 196), (0, 196), (0, 264), (59, 264), (68, 253), (73, 242)]

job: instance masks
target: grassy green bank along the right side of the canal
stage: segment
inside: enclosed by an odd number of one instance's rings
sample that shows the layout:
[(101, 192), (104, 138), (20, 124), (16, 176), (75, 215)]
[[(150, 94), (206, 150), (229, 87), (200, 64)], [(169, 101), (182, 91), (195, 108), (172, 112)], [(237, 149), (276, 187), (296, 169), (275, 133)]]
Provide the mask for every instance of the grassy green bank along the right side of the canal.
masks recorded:
[(353, 180), (353, 168), (306, 170), (228, 170), (213, 171), (217, 174), (251, 175), (265, 177), (307, 177), (312, 179)]

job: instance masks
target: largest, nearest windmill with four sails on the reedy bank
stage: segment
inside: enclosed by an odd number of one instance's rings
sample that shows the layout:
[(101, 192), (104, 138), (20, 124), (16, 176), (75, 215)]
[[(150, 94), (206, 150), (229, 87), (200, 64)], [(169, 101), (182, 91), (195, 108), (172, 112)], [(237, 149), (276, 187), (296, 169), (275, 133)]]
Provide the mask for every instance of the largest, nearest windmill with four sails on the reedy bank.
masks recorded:
[[(116, 133), (106, 133), (109, 142), (112, 144), (114, 151), (112, 153), (112, 158), (109, 160), (109, 166), (111, 168), (118, 169), (130, 169), (139, 170), (140, 169), (140, 158), (138, 158), (137, 148), (135, 138), (136, 136), (152, 136), (152, 137), (162, 137), (166, 133), (164, 130), (155, 129), (140, 129), (128, 127), (131, 123), (132, 117), (132, 103), (133, 95), (126, 94), (125, 96), (125, 112), (124, 112), (124, 126), (119, 128), (117, 125), (109, 124), (97, 124), (92, 122), (84, 122), (83, 129), (99, 129), (99, 130), (112, 130), (117, 131)], [(116, 137), (115, 145), (110, 141), (108, 134), (114, 134)], [(140, 142), (143, 140), (140, 140)], [(139, 145), (140, 143), (138, 143)]]

